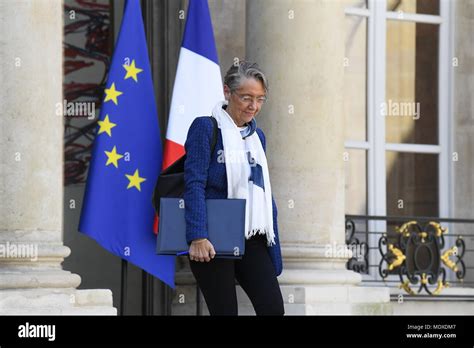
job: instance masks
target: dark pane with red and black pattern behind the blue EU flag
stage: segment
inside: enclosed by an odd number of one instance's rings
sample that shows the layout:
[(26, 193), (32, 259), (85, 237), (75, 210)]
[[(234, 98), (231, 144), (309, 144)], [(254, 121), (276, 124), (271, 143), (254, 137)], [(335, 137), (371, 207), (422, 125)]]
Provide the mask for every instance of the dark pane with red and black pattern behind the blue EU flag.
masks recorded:
[[(89, 3), (64, 0), (64, 13), (63, 94), (67, 103), (64, 185), (67, 186), (83, 184), (87, 178), (114, 40), (113, 6), (109, 0)], [(74, 103), (85, 107), (70, 108)]]

